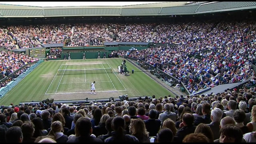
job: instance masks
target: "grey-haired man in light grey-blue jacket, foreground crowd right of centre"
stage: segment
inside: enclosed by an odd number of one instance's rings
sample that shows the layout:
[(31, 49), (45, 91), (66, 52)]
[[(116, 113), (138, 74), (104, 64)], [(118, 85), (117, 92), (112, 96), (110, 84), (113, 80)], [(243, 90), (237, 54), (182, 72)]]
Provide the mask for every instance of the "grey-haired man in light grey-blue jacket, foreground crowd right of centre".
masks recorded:
[(177, 115), (176, 113), (171, 112), (171, 110), (173, 110), (173, 104), (166, 103), (164, 105), (164, 109), (165, 112), (161, 113), (158, 118), (161, 121), (161, 124), (163, 124), (163, 122), (168, 118), (176, 122)]

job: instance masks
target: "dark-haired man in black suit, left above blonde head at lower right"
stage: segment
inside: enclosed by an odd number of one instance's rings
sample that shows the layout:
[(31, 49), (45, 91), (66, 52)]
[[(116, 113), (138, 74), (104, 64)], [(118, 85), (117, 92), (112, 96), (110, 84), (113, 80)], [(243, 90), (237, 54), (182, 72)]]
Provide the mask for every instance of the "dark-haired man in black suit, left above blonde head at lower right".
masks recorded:
[(182, 140), (189, 134), (192, 134), (196, 130), (196, 126), (193, 125), (194, 116), (191, 113), (185, 113), (182, 116), (181, 129), (179, 129), (174, 136), (174, 143), (182, 143)]

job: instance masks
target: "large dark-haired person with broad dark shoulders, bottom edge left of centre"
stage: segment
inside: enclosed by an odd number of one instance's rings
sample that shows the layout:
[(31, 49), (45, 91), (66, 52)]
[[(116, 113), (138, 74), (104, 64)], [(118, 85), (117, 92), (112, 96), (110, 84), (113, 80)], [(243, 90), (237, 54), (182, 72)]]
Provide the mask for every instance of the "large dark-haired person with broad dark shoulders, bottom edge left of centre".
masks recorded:
[(103, 143), (99, 138), (91, 137), (93, 128), (90, 119), (80, 118), (77, 120), (75, 130), (79, 132), (79, 137), (73, 137), (67, 143)]

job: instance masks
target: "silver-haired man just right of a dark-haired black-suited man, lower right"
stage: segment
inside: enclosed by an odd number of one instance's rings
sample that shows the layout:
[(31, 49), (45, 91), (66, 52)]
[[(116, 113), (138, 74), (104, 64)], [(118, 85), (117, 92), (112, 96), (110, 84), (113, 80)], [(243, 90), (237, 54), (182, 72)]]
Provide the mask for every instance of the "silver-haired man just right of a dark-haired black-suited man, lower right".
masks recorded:
[(214, 108), (211, 111), (211, 120), (212, 122), (210, 124), (207, 124), (208, 126), (210, 126), (210, 129), (212, 130), (213, 133), (213, 140), (216, 140), (219, 138), (219, 129), (220, 129), (220, 121), (222, 118), (223, 112), (221, 109), (219, 108)]

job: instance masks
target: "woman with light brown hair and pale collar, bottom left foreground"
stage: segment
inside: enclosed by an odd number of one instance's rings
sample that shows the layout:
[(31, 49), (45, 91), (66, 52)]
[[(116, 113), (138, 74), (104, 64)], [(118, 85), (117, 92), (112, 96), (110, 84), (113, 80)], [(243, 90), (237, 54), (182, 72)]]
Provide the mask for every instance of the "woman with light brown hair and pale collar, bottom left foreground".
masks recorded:
[(51, 123), (51, 130), (48, 135), (53, 136), (57, 143), (66, 143), (68, 141), (68, 136), (64, 135), (62, 133), (63, 131), (62, 123), (60, 121), (55, 121)]

